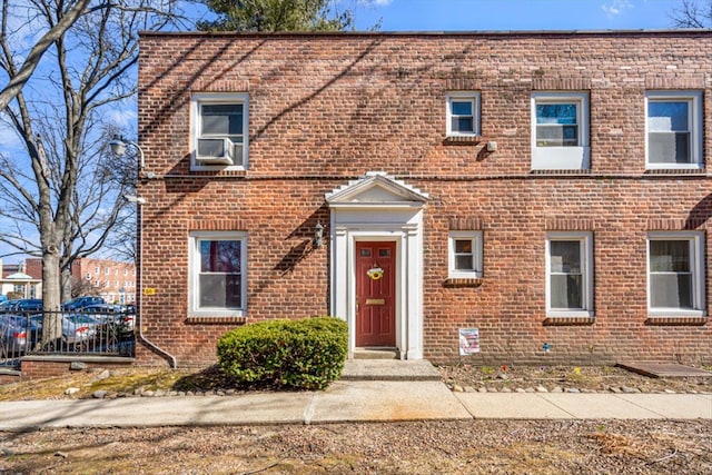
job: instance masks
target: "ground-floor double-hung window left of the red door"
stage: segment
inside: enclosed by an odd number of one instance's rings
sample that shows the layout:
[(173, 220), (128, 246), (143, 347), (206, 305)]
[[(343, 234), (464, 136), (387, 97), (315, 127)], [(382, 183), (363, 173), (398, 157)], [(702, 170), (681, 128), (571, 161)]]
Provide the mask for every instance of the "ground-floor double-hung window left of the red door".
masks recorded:
[(190, 309), (194, 315), (240, 316), (247, 308), (247, 236), (190, 235)]

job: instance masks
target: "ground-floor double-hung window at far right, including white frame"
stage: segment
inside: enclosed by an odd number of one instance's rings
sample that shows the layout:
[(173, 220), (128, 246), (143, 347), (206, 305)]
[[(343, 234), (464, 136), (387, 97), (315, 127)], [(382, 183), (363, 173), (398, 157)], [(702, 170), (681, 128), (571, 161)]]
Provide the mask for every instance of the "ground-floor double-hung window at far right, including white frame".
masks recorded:
[(649, 232), (647, 305), (651, 316), (704, 315), (702, 232)]

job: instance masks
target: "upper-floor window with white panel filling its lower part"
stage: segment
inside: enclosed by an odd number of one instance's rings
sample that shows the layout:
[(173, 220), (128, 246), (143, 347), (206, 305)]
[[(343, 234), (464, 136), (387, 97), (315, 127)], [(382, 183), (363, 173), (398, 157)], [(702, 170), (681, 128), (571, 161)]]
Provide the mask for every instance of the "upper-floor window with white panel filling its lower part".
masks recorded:
[(532, 169), (589, 168), (589, 95), (532, 95)]

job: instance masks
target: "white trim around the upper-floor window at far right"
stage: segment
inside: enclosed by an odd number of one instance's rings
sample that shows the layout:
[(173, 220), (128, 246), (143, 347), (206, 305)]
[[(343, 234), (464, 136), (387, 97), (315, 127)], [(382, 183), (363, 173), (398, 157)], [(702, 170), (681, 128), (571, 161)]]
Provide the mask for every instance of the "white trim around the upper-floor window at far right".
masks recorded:
[[(690, 132), (690, 154), (691, 161), (688, 164), (651, 164), (647, 156), (647, 105), (653, 100), (678, 100), (688, 101), (690, 107), (688, 112), (690, 113), (689, 120), (691, 123)], [(702, 92), (701, 91), (645, 91), (645, 167), (647, 169), (700, 169), (703, 168), (702, 164)]]

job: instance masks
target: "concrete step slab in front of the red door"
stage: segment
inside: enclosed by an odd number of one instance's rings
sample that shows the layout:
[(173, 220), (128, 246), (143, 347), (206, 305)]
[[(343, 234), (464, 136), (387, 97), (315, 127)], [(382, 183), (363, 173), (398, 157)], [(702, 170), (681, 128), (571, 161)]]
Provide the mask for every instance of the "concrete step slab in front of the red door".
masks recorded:
[(425, 359), (347, 359), (343, 380), (441, 380)]

